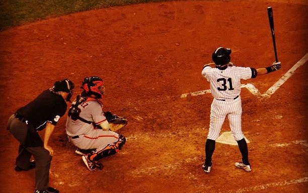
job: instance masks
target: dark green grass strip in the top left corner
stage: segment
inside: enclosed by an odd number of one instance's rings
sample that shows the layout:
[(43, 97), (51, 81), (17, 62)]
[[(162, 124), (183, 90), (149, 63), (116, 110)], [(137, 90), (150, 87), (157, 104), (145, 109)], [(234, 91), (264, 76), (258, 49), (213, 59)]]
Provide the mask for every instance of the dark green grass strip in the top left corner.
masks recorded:
[(87, 10), (166, 0), (0, 0), (0, 31)]

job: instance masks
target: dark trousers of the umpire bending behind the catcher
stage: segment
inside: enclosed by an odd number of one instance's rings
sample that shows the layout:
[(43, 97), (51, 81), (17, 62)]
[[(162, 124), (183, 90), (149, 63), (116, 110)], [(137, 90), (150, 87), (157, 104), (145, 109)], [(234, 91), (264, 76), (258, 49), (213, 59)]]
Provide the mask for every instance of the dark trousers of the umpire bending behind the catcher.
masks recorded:
[(35, 166), (35, 189), (47, 189), (49, 187), (49, 168), (52, 156), (44, 147), (25, 147), (28, 127), (25, 123), (16, 119), (14, 115), (9, 118), (8, 129), (20, 142), (16, 165), (22, 169), (30, 167), (30, 157), (33, 155)]

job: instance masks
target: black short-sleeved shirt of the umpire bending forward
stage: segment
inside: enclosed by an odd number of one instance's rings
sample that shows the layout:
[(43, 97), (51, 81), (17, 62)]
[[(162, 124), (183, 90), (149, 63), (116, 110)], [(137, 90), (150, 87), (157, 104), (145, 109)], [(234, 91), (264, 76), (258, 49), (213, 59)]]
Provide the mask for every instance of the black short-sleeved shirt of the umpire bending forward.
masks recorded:
[(66, 108), (63, 97), (47, 89), (16, 113), (31, 123), (36, 131), (41, 131), (46, 127), (47, 121), (56, 125)]

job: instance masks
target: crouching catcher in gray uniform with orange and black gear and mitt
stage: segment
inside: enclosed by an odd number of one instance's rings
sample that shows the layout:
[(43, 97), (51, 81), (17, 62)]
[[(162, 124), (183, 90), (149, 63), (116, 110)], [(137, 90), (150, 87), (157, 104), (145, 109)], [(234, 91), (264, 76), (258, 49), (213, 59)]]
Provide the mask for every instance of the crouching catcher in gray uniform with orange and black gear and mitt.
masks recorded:
[(102, 169), (98, 160), (117, 153), (126, 142), (116, 131), (127, 124), (127, 119), (103, 112), (103, 83), (98, 76), (84, 78), (83, 92), (72, 103), (66, 121), (68, 140), (78, 147), (76, 153), (87, 152), (82, 159), (90, 170)]

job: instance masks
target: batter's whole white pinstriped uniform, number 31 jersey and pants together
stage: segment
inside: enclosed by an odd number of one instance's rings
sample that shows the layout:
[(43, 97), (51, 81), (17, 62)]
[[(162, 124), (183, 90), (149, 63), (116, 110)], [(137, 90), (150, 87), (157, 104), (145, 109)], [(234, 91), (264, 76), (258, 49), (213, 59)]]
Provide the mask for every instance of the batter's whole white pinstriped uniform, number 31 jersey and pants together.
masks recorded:
[(256, 77), (249, 67), (228, 66), (224, 70), (205, 66), (202, 76), (210, 82), (214, 100), (211, 105), (208, 139), (216, 140), (226, 116), (236, 141), (244, 138), (242, 132), (241, 79)]

